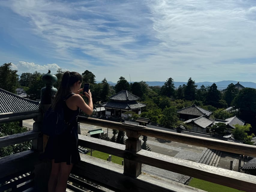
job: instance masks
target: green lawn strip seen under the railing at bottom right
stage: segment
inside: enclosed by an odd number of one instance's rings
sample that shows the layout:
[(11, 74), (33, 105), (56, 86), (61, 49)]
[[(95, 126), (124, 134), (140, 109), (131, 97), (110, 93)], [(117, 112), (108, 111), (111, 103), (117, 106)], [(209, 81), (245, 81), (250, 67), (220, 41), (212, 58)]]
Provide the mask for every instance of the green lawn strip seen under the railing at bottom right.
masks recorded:
[(233, 189), (230, 187), (226, 187), (223, 185), (211, 183), (208, 181), (203, 181), (201, 179), (193, 178), (189, 182), (189, 186), (196, 187), (198, 189), (202, 189), (208, 192), (241, 192), (240, 190)]

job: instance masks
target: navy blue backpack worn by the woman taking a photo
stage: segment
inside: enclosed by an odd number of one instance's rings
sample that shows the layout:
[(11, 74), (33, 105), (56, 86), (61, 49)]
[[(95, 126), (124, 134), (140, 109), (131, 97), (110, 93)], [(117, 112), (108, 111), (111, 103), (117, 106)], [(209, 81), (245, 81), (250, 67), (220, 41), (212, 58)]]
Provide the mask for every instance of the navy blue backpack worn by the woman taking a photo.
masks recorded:
[(62, 102), (60, 102), (53, 110), (52, 106), (44, 114), (42, 133), (50, 137), (56, 137), (64, 133), (68, 127), (73, 123), (65, 122), (64, 116), (64, 102), (70, 98), (74, 93), (69, 94)]

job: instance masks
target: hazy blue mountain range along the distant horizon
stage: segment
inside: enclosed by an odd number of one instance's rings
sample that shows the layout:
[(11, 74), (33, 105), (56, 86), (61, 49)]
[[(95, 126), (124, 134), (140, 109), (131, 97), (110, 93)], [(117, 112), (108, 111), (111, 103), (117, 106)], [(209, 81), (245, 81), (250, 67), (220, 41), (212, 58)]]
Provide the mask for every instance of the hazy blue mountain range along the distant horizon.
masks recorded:
[[(205, 87), (206, 86), (211, 86), (213, 83), (215, 83), (218, 87), (218, 90), (223, 90), (225, 88), (227, 88), (227, 85), (233, 83), (234, 85), (237, 83), (238, 81), (231, 81), (231, 80), (228, 80), (228, 81), (218, 81), (218, 82), (208, 82), (208, 81), (205, 81), (205, 82), (196, 82), (195, 84), (197, 85), (197, 88), (200, 88), (201, 85), (204, 85)], [(99, 83), (99, 82), (97, 82)], [(111, 81), (108, 82), (110, 85), (116, 85), (116, 83), (113, 83)], [(133, 82), (132, 82), (133, 83)], [(149, 86), (163, 86), (165, 81), (146, 81), (146, 83), (149, 85)], [(187, 85), (187, 82), (173, 82), (174, 83), (174, 86), (176, 88), (179, 87), (179, 85)], [(240, 81), (239, 84), (243, 85), (244, 87), (250, 87), (250, 88), (256, 88), (256, 83), (254, 82), (243, 82), (243, 81)]]

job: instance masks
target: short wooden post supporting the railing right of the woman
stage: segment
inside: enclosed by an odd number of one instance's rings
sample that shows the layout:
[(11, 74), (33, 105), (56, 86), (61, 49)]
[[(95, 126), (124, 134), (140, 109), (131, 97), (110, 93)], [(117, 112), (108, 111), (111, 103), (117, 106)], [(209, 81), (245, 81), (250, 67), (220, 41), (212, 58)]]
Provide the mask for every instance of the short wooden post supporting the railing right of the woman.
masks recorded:
[(126, 135), (128, 139), (126, 140), (125, 150), (127, 151), (124, 158), (124, 174), (137, 177), (141, 173), (141, 163), (132, 161), (133, 154), (141, 149), (141, 140), (138, 131), (133, 131), (131, 129), (126, 130)]

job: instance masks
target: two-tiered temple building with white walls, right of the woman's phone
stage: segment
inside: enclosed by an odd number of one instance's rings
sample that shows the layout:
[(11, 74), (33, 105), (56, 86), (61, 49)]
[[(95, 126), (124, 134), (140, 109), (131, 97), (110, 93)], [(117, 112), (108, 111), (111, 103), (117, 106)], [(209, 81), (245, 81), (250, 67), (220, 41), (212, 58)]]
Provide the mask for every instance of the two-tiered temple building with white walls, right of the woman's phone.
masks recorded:
[(105, 107), (105, 115), (108, 117), (127, 118), (128, 114), (124, 114), (125, 112), (135, 112), (140, 115), (142, 107), (146, 106), (146, 104), (137, 102), (139, 97), (126, 90), (110, 96), (109, 99), (109, 102), (101, 104), (101, 107)]

